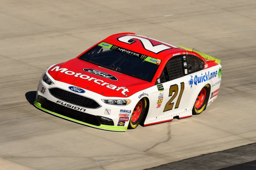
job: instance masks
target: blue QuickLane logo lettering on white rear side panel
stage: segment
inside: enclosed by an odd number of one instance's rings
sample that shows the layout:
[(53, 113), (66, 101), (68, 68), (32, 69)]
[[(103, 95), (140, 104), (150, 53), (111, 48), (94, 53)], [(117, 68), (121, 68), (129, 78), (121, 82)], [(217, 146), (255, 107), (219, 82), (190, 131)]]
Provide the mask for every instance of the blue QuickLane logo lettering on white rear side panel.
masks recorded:
[[(201, 73), (201, 75), (195, 75), (194, 79), (193, 79), (193, 76), (190, 75), (190, 77), (191, 77), (191, 79), (189, 81), (190, 88), (192, 88), (193, 84), (198, 85), (205, 81), (211, 80), (212, 78), (215, 78), (216, 76), (217, 76), (217, 71), (211, 72), (211, 73), (208, 72), (208, 74), (207, 74), (207, 72), (204, 72), (204, 73)], [(219, 84), (219, 83), (217, 82), (217, 84)], [(215, 85), (212, 84), (212, 86), (215, 86)]]

